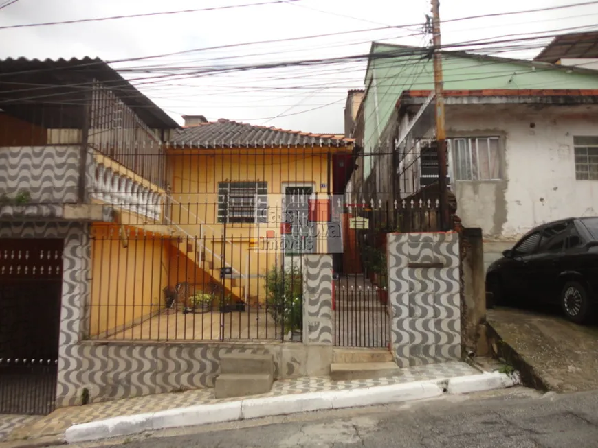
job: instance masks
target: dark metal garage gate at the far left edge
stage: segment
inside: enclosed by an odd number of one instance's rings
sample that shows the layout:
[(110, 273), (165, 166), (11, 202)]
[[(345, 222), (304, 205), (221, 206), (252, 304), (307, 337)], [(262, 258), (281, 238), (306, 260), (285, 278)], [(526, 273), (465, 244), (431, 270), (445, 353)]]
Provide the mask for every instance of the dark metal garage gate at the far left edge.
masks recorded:
[(0, 239), (0, 413), (56, 401), (62, 239)]

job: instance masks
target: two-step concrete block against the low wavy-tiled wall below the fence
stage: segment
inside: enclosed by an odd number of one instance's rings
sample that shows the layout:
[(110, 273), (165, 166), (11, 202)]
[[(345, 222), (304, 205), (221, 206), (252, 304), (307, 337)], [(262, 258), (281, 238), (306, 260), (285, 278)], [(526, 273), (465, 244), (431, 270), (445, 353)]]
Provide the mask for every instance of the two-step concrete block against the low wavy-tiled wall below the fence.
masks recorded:
[(272, 355), (237, 353), (222, 355), (216, 378), (216, 398), (265, 394), (274, 382)]

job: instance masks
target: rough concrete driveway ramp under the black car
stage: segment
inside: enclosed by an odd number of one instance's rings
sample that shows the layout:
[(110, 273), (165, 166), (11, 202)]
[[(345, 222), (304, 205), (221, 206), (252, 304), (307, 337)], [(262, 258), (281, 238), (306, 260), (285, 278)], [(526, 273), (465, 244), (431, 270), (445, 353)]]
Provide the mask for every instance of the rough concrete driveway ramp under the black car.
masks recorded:
[(574, 324), (551, 309), (489, 309), (487, 320), (549, 389), (598, 389), (597, 325)]

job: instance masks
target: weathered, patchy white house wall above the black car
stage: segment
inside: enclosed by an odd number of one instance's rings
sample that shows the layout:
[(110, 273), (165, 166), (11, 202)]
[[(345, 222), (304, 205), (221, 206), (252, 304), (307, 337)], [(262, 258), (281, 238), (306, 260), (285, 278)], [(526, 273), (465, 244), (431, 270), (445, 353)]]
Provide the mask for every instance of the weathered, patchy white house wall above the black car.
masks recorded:
[(449, 137), (500, 137), (502, 180), (454, 181), (463, 225), (510, 244), (539, 224), (598, 214), (598, 182), (575, 179), (573, 150), (574, 136), (598, 135), (596, 113), (595, 106), (447, 107)]

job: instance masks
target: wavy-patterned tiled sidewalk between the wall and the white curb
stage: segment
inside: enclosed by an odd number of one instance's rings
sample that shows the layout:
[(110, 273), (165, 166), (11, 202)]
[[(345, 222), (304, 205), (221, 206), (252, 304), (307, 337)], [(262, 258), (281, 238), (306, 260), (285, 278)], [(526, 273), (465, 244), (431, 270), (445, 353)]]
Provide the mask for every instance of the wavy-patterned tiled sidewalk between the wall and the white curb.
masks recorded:
[[(340, 390), (348, 388), (367, 388), (386, 384), (401, 384), (425, 379), (444, 379), (462, 375), (480, 373), (464, 362), (447, 362), (428, 366), (410, 367), (401, 370), (401, 374), (382, 379), (331, 381), (329, 377), (305, 377), (275, 381), (272, 391), (254, 397), (272, 397), (285, 394), (301, 394), (324, 390)], [(86, 423), (112, 416), (141, 414), (181, 408), (184, 406), (236, 401), (238, 398), (216, 399), (213, 389), (189, 390), (181, 393), (157, 394), (147, 397), (93, 403), (75, 408), (58, 409), (52, 414), (39, 418), (30, 424), (22, 425), (12, 431), (6, 440), (23, 438), (40, 438), (62, 434), (65, 429), (75, 423)]]

